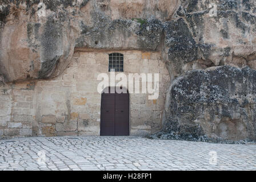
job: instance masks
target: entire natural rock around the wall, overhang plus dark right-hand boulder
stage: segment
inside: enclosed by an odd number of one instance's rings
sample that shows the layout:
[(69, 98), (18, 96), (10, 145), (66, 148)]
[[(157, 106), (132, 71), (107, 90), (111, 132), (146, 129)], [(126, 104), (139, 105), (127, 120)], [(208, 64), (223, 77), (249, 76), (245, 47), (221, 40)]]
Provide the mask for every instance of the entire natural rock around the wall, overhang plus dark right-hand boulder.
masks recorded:
[(163, 133), (255, 139), (255, 22), (254, 0), (1, 1), (0, 86), (57, 77), (75, 51), (161, 51)]

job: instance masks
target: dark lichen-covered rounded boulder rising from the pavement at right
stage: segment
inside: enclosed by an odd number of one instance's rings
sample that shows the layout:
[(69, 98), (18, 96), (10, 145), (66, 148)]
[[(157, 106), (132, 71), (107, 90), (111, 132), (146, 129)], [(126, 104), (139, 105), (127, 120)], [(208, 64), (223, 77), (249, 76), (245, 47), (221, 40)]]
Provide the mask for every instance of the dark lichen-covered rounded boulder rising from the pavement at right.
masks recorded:
[(256, 71), (248, 67), (230, 66), (177, 78), (167, 97), (167, 121), (172, 127), (166, 133), (173, 136), (158, 137), (255, 140), (255, 78)]

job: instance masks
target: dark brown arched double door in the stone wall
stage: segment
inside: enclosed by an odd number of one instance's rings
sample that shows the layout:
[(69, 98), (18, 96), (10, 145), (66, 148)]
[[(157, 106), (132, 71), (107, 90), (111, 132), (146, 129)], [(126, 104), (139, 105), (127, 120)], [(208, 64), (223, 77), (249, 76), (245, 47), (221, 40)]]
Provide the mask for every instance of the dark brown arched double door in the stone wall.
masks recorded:
[(129, 135), (129, 93), (102, 93), (101, 135)]

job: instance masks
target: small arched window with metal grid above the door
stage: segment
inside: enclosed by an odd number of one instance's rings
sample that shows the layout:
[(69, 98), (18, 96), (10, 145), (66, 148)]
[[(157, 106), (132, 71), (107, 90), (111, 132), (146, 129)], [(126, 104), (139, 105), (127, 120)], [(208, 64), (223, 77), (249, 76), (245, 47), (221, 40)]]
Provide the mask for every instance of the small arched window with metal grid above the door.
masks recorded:
[(123, 54), (110, 53), (109, 54), (109, 72), (123, 72)]

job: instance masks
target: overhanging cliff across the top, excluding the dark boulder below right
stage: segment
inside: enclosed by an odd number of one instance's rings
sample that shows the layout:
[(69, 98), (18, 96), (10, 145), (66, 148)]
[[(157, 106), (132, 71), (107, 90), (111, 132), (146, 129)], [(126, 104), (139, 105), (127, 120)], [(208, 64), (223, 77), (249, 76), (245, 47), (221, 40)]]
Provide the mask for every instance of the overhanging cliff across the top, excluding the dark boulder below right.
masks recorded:
[(255, 69), (252, 0), (38, 0), (0, 6), (6, 82), (55, 77), (75, 48), (161, 49), (172, 78), (218, 65)]

